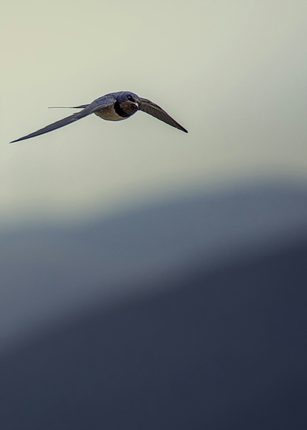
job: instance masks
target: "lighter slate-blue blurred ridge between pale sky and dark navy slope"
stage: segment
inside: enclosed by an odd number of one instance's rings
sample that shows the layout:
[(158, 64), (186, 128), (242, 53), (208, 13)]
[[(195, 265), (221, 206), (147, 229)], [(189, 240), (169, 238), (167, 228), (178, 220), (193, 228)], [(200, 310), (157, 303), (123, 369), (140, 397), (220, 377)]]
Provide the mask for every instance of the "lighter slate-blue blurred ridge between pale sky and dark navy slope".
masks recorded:
[(160, 288), (147, 280), (172, 277), (200, 255), (210, 270), (287, 247), (306, 236), (306, 214), (305, 187), (255, 181), (71, 227), (3, 231), (2, 346), (27, 342), (93, 303)]

